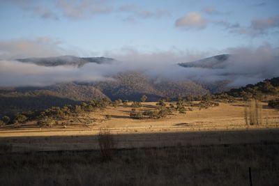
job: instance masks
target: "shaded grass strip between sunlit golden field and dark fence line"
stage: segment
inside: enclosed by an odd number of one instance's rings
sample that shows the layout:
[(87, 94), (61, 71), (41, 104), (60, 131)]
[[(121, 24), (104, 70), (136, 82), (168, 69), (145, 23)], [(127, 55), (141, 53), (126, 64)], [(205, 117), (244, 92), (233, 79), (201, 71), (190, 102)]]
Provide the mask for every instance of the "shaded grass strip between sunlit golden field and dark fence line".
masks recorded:
[[(178, 125), (177, 125), (178, 124)], [(177, 126), (188, 125), (188, 123), (177, 123)], [(154, 132), (154, 133), (132, 133), (115, 134), (116, 132), (133, 132), (137, 128), (123, 128), (120, 131), (110, 129), (117, 148), (142, 148), (194, 145), (216, 145), (216, 144), (251, 144), (262, 141), (276, 141), (279, 143), (279, 129), (265, 130), (223, 130), (223, 131), (191, 131), (191, 132)], [(98, 132), (98, 130), (89, 130)], [(143, 132), (144, 130), (142, 130)], [(61, 133), (66, 132), (61, 130)], [(38, 133), (40, 134), (40, 133)], [(38, 135), (37, 134), (37, 135)], [(47, 133), (46, 133), (47, 134)], [(49, 133), (51, 134), (51, 133)], [(222, 141), (220, 141), (222, 139)], [(52, 150), (98, 150), (98, 134), (84, 135), (76, 132), (75, 135), (56, 136), (31, 136), (31, 137), (1, 137), (1, 153), (28, 153), (35, 151)]]

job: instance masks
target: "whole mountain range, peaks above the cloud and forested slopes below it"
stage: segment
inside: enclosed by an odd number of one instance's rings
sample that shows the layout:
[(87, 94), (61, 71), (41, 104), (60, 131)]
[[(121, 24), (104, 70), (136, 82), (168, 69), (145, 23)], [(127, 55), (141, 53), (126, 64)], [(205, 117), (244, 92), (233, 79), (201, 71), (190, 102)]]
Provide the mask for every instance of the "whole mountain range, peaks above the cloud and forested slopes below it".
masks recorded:
[[(212, 56), (199, 61), (179, 63), (181, 68), (222, 69), (227, 67), (230, 54)], [(86, 63), (114, 63), (105, 57), (80, 58), (76, 56), (57, 56), (48, 58), (17, 59), (22, 63), (43, 66), (74, 65), (81, 67)], [(172, 69), (169, 69), (172, 70)], [(111, 100), (140, 100), (143, 94), (147, 101), (159, 98), (177, 98), (179, 95), (204, 95), (228, 91), (228, 80), (180, 79), (150, 77), (144, 72), (124, 71), (109, 76), (112, 80), (97, 82), (68, 82), (40, 87), (0, 87), (0, 116), (17, 111), (43, 110), (52, 106), (76, 104), (82, 101), (108, 97)], [(237, 87), (234, 87), (237, 88)]]

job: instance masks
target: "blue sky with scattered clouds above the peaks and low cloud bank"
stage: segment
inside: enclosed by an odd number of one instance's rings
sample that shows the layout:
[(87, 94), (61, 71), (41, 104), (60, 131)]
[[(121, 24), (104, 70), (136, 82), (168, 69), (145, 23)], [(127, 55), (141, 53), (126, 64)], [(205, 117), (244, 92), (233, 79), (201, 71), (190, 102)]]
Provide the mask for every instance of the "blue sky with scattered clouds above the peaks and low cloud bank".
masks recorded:
[(0, 59), (131, 52), (199, 59), (262, 45), (278, 55), (278, 9), (277, 0), (1, 0)]

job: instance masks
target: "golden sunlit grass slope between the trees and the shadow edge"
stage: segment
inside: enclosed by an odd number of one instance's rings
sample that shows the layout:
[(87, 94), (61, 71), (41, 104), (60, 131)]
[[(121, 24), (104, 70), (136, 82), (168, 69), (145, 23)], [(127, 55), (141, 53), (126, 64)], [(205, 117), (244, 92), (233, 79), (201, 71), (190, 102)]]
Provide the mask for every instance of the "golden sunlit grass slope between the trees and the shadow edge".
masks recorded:
[[(194, 102), (195, 104), (195, 102)], [(250, 125), (250, 128), (278, 127), (279, 111), (269, 109), (266, 103), (261, 103), (263, 109), (260, 111), (259, 123), (265, 125)], [(187, 107), (190, 107), (188, 105)], [(248, 119), (245, 119), (243, 109), (246, 108), (245, 102), (220, 103), (219, 107), (210, 107), (209, 109), (199, 110), (198, 107), (191, 107), (193, 111), (187, 111), (186, 114), (179, 114), (178, 111), (160, 119), (135, 120), (129, 117), (130, 107), (108, 107), (104, 110), (92, 111), (69, 121), (59, 121), (67, 123), (63, 125), (54, 125), (52, 128), (39, 128), (36, 122), (29, 122), (22, 125), (21, 128), (13, 129), (11, 127), (1, 127), (0, 137), (8, 136), (40, 136), (40, 135), (75, 135), (75, 134), (97, 134), (100, 127), (108, 127), (112, 133), (152, 133), (179, 131), (202, 131), (202, 130), (236, 130), (246, 129)], [(155, 102), (145, 102), (138, 111), (156, 109)], [(106, 117), (110, 115), (108, 120)], [(187, 123), (181, 125), (181, 123)], [(6, 132), (5, 132), (6, 131)], [(15, 132), (16, 131), (16, 132)], [(22, 131), (22, 132), (21, 132)], [(63, 131), (63, 132), (59, 132)]]

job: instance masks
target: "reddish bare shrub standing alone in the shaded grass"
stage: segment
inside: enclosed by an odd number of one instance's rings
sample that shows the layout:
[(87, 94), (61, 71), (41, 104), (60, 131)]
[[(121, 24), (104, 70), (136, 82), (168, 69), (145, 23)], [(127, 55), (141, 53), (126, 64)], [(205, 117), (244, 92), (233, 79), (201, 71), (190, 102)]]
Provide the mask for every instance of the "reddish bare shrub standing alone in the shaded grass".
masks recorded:
[(116, 153), (116, 141), (107, 128), (101, 128), (98, 134), (100, 157), (104, 162), (111, 161)]

